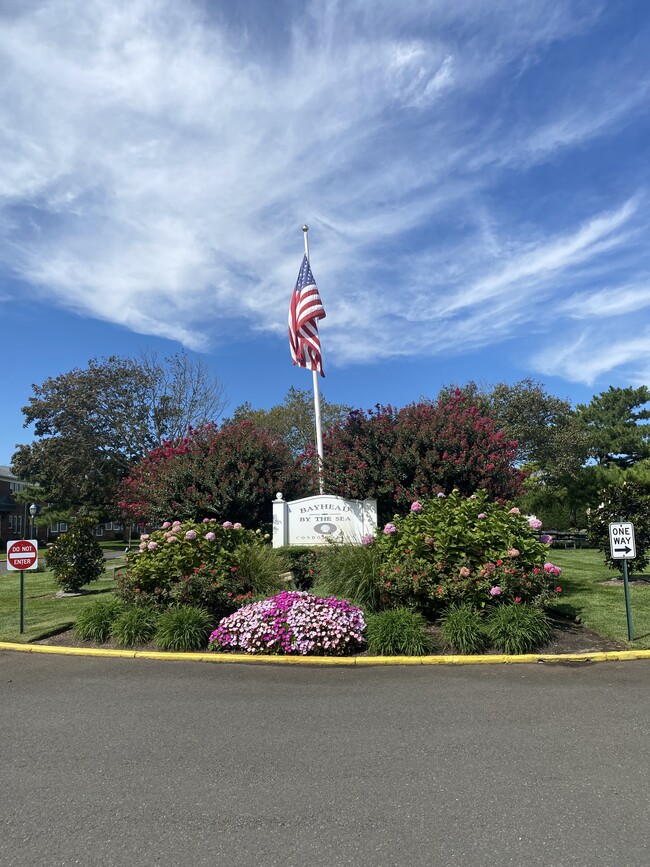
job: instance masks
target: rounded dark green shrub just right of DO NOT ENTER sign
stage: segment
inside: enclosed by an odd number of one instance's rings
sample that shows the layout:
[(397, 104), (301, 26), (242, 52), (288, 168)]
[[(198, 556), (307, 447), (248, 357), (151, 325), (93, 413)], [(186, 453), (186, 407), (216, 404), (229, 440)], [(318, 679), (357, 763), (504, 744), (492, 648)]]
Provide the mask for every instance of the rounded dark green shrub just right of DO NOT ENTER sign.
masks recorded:
[(104, 554), (95, 539), (94, 518), (74, 518), (65, 533), (47, 549), (47, 568), (56, 583), (75, 593), (104, 573)]

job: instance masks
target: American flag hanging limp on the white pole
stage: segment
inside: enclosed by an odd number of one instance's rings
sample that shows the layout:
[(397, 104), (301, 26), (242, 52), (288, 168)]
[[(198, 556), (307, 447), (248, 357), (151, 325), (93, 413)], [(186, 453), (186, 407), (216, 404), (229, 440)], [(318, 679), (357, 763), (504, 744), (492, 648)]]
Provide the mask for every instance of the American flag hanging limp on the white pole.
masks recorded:
[(323, 373), (323, 360), (318, 338), (318, 320), (325, 318), (314, 275), (307, 256), (303, 256), (296, 288), (289, 306), (289, 346), (293, 363), (307, 370)]

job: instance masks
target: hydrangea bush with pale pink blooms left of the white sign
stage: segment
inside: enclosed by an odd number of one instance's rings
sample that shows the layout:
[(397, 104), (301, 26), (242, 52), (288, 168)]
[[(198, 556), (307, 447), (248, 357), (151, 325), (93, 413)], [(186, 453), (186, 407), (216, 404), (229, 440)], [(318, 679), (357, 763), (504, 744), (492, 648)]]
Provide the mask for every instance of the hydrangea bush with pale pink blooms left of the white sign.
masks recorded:
[[(231, 521), (165, 521), (159, 530), (140, 537), (139, 551), (127, 557), (128, 571), (118, 578), (118, 595), (127, 603), (158, 608), (189, 604), (223, 617), (250, 601), (257, 576), (246, 554), (264, 549), (263, 561), (275, 589), (286, 570), (284, 559), (259, 531)], [(269, 576), (265, 575), (268, 583)]]

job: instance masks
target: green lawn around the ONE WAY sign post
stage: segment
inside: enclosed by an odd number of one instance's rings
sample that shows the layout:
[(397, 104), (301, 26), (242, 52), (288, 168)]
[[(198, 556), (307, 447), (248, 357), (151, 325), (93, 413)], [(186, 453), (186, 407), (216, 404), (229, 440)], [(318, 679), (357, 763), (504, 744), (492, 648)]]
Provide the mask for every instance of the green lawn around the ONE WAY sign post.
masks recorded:
[[(549, 559), (562, 568), (558, 579), (562, 602), (558, 610), (579, 617), (581, 623), (599, 635), (628, 643), (623, 585), (600, 583), (621, 576), (605, 566), (600, 551), (552, 550)], [(631, 565), (634, 566), (634, 561)], [(630, 600), (635, 640), (629, 646), (650, 649), (650, 583), (630, 585)]]

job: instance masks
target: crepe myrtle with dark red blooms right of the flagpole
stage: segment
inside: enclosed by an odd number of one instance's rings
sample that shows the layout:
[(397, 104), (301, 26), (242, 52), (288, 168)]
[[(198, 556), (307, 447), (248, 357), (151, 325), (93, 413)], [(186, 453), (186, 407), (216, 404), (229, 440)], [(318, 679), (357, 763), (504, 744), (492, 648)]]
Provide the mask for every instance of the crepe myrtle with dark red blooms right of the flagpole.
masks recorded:
[[(458, 389), (435, 403), (355, 410), (326, 434), (324, 450), (326, 489), (376, 497), (380, 520), (438, 492), (482, 488), (503, 500), (521, 492), (517, 443)], [(313, 467), (313, 452), (305, 460)]]

